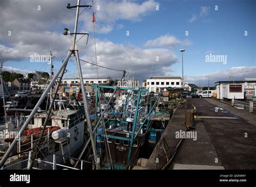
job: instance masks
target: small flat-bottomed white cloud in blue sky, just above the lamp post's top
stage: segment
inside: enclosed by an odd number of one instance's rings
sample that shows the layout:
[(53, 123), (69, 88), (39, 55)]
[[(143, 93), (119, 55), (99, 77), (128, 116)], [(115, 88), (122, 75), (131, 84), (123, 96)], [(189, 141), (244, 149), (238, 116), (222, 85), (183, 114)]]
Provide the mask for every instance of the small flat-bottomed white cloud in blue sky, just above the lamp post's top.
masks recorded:
[(176, 47), (177, 45), (191, 45), (191, 42), (189, 40), (181, 41), (174, 37), (173, 35), (162, 35), (159, 38), (156, 38), (154, 40), (149, 40), (144, 45), (145, 47), (155, 47), (155, 46), (169, 46), (169, 47)]

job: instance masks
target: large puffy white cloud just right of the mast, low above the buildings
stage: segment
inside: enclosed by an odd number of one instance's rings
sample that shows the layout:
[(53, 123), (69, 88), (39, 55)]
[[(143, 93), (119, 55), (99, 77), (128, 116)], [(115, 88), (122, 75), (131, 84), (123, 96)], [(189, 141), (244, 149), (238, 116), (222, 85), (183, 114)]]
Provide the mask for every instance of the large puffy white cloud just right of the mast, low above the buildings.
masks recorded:
[[(81, 59), (95, 63), (95, 48), (90, 44), (87, 47), (85, 49), (87, 54), (81, 55)], [(172, 71), (172, 64), (178, 60), (177, 56), (169, 49), (142, 49), (133, 45), (113, 44), (109, 40), (97, 39), (96, 48), (100, 66), (129, 71), (140, 81), (150, 76), (152, 64), (152, 75), (169, 75)], [(159, 61), (156, 61), (157, 58), (159, 58)], [(81, 63), (85, 77), (97, 77), (96, 66)], [(120, 78), (122, 76), (120, 71), (100, 67), (98, 71), (99, 77)]]

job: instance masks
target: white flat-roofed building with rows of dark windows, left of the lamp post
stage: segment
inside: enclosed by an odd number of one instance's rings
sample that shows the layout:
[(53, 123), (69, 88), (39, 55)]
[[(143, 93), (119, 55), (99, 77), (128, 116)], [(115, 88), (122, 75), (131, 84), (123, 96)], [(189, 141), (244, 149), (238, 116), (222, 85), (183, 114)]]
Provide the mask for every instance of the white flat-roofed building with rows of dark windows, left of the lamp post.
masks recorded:
[(149, 91), (166, 91), (168, 87), (182, 88), (181, 77), (154, 76), (146, 80), (146, 88)]

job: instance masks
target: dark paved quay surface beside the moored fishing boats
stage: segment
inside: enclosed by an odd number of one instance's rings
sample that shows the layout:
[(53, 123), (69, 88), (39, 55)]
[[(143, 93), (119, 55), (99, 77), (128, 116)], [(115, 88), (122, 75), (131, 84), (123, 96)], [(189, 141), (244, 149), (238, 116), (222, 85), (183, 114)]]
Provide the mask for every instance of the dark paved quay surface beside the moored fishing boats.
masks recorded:
[[(214, 99), (198, 98), (192, 102), (198, 111), (193, 130), (197, 139), (183, 140), (169, 169), (255, 169), (256, 115)], [(180, 140), (176, 138), (177, 131), (184, 130), (186, 110), (186, 107), (178, 109), (163, 133), (171, 153)], [(155, 157), (156, 150), (146, 169), (164, 166), (166, 156), (163, 149), (159, 151), (157, 165)]]

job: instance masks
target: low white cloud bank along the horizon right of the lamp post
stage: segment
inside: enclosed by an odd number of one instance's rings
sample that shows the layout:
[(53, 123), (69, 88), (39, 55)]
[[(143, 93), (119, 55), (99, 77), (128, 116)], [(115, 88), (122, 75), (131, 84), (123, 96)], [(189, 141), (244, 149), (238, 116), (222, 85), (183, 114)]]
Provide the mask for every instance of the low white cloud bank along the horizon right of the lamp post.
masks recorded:
[(216, 71), (210, 74), (203, 74), (198, 76), (187, 76), (187, 81), (189, 83), (196, 83), (201, 85), (208, 85), (208, 78), (210, 84), (213, 85), (214, 82), (218, 81), (228, 81), (229, 76), (234, 76), (234, 80), (241, 81), (244, 80), (244, 76), (247, 78), (256, 77), (256, 66), (246, 67), (232, 67), (230, 69), (225, 69), (221, 71)]

